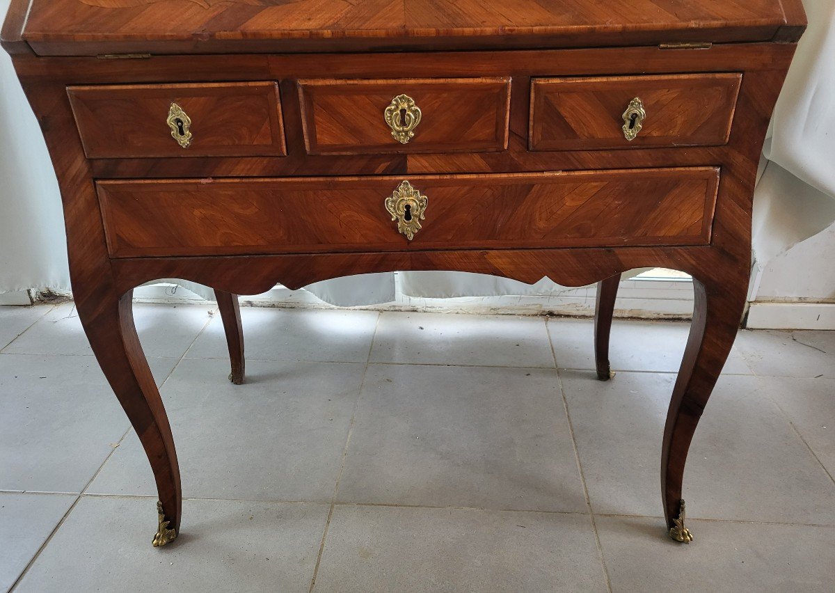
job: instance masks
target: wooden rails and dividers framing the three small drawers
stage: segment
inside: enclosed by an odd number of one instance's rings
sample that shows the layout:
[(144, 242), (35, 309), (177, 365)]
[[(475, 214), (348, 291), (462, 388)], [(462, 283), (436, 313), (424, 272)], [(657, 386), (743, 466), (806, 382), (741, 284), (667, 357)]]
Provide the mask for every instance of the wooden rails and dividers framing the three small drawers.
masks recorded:
[[(547, 171), (584, 169), (624, 169), (632, 167), (671, 167), (716, 164), (726, 160), (723, 147), (695, 147), (680, 151), (657, 149), (529, 152), (529, 80), (532, 74), (574, 76), (579, 73), (630, 73), (635, 63), (649, 73), (723, 72), (747, 69), (780, 72), (788, 67), (794, 46), (777, 43), (715, 45), (708, 49), (619, 48), (571, 49), (562, 51), (414, 53), (409, 56), (410, 72), (420, 77), (449, 74), (461, 77), (512, 74), (513, 100), (508, 150), (497, 153), (458, 153), (453, 155), (306, 155), (301, 124), (296, 119), (296, 84), (281, 81), (286, 105), (285, 159), (248, 157), (190, 159), (94, 160), (91, 166), (98, 178), (183, 178), (280, 175), (357, 175), (402, 173), (456, 173), (491, 171)], [(188, 59), (184, 63), (184, 59)], [(330, 77), (337, 70), (357, 78), (387, 78), (402, 73), (402, 54), (341, 54), (296, 56), (211, 56), (154, 57), (137, 60), (99, 60), (61, 58), (43, 60), (19, 56), (16, 68), (21, 75), (36, 71), (56, 84), (73, 84), (72, 73), (82, 71), (84, 82), (105, 84), (124, 77), (137, 82), (178, 79), (254, 80), (292, 76)], [(45, 63), (44, 63), (45, 62)], [(185, 68), (184, 68), (185, 67)], [(735, 134), (731, 130), (731, 136)], [(731, 138), (732, 141), (732, 138)]]

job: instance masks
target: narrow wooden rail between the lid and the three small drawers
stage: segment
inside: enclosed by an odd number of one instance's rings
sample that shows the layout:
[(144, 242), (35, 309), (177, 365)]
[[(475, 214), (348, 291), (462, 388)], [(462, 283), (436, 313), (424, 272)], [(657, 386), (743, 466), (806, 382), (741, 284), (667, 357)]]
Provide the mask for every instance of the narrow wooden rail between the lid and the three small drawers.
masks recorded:
[[(327, 53), (265, 55), (164, 55), (138, 59), (56, 58), (18, 56), (15, 69), (23, 76), (51, 77), (64, 84), (332, 79), (634, 75), (641, 73), (725, 73), (743, 70), (782, 70), (792, 62), (795, 46), (786, 43), (742, 43), (709, 48), (629, 47), (553, 50), (501, 50), (409, 53)], [(75, 75), (73, 75), (75, 74)], [(73, 82), (74, 81), (74, 82)], [(527, 124), (527, 115), (525, 117)]]

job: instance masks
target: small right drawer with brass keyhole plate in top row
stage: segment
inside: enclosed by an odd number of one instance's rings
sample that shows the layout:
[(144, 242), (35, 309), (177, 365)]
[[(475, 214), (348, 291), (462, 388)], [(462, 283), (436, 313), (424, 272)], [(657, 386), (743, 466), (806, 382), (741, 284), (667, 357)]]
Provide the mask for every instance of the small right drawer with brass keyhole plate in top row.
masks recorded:
[(726, 144), (741, 79), (738, 73), (534, 79), (530, 150)]

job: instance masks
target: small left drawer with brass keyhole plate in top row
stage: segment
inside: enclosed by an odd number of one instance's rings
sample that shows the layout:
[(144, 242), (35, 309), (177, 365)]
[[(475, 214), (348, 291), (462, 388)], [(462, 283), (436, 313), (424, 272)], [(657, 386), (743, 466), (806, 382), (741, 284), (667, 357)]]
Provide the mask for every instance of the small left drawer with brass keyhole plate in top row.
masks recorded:
[(275, 82), (68, 87), (90, 159), (284, 156)]

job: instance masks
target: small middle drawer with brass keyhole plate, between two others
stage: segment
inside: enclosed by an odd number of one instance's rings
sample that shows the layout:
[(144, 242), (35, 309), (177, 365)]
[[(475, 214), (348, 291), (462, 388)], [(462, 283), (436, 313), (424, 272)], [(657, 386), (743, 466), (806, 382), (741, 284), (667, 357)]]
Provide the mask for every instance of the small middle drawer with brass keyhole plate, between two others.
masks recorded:
[(491, 152), (508, 145), (509, 78), (298, 83), (309, 155)]

